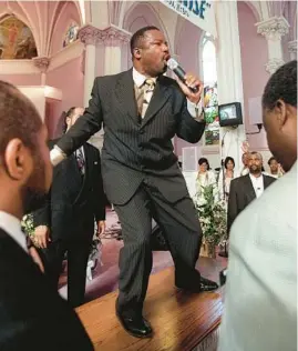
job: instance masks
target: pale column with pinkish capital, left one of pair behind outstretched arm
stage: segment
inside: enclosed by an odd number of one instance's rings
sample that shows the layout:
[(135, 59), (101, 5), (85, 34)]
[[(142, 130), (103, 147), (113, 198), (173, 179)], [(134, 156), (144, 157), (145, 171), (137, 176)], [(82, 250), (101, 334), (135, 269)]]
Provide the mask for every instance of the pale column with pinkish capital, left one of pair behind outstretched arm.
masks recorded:
[(96, 42), (101, 39), (101, 31), (91, 26), (84, 26), (79, 30), (79, 38), (85, 46), (84, 52), (84, 107), (88, 107), (91, 90), (95, 79)]

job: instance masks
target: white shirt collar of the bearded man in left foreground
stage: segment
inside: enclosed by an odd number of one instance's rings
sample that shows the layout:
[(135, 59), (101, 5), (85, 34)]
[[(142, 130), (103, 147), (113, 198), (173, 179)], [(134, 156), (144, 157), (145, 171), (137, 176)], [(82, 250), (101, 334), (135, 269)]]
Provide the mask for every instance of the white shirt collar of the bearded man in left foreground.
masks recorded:
[(0, 228), (4, 230), (25, 251), (25, 235), (21, 230), (21, 221), (7, 212), (0, 211)]

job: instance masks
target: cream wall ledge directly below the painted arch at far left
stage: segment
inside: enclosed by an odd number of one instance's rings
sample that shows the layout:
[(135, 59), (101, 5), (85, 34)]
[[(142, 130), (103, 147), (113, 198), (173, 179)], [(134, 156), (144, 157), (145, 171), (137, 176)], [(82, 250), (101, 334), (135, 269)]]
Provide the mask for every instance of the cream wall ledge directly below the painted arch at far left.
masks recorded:
[(40, 74), (32, 60), (0, 60), (1, 74)]

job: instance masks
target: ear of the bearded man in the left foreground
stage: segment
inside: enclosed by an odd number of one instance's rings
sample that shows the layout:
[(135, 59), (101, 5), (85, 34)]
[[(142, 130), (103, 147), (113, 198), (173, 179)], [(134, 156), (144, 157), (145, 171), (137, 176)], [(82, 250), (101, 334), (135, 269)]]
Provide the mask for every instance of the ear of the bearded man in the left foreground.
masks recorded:
[(33, 168), (29, 149), (18, 138), (9, 141), (4, 151), (4, 162), (8, 174), (17, 181), (25, 181)]

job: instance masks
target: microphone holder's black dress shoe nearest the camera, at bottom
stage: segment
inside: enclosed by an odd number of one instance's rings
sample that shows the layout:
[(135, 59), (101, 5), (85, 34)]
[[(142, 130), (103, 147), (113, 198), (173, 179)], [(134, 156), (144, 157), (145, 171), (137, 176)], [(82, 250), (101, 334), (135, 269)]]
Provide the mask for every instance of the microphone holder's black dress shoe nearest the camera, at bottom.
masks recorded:
[(129, 334), (135, 338), (151, 338), (153, 330), (150, 322), (142, 315), (126, 317), (116, 311), (117, 319), (121, 325), (127, 331)]

